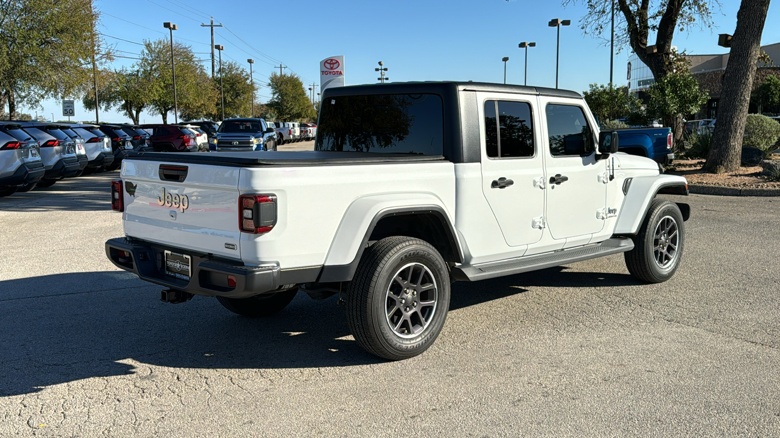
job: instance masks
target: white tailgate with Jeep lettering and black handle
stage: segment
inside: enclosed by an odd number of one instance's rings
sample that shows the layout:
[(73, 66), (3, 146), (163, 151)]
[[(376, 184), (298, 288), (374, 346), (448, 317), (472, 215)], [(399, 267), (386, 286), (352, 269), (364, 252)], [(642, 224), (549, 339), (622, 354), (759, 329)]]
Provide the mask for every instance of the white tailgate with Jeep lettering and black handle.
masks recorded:
[(125, 234), (240, 260), (239, 168), (126, 159)]

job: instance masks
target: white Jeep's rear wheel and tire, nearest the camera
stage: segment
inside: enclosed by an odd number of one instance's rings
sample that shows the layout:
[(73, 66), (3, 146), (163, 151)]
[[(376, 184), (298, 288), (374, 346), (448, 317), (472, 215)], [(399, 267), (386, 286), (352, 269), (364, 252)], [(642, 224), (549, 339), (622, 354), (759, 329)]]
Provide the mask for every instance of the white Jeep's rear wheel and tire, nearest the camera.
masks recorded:
[(363, 252), (349, 282), (347, 323), (372, 355), (408, 359), (436, 341), (449, 295), (449, 270), (433, 246), (418, 238), (383, 238)]

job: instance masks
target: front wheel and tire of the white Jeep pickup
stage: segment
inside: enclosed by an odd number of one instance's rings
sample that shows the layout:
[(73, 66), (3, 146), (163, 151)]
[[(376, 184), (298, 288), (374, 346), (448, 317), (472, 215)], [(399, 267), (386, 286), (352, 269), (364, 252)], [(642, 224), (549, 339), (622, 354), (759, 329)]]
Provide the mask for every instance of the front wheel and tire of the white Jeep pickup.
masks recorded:
[(677, 204), (653, 200), (639, 233), (632, 239), (634, 249), (624, 253), (631, 275), (648, 283), (672, 278), (685, 249), (685, 222)]

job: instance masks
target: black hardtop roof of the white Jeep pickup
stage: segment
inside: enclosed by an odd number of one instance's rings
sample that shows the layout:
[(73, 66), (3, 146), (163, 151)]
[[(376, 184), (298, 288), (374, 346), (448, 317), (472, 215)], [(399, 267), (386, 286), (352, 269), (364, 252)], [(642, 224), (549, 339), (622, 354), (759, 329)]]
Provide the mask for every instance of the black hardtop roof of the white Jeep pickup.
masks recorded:
[[(391, 82), (349, 85), (347, 87), (332, 87), (325, 90), (328, 94), (403, 94), (413, 92), (436, 92), (442, 88), (465, 91), (493, 91), (496, 93), (537, 94), (551, 97), (572, 97), (582, 99), (582, 95), (572, 90), (559, 88), (526, 87), (509, 83), (463, 82), (463, 81), (423, 81), (423, 82)], [(345, 93), (346, 92), (346, 93)]]

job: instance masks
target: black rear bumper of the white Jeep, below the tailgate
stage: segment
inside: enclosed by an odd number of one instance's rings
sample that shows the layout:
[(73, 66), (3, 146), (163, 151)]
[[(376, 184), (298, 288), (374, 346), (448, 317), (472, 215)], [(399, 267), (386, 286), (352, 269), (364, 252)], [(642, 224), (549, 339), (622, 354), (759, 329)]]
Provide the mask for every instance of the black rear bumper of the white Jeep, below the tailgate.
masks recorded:
[[(166, 249), (191, 257), (189, 280), (165, 274)], [(120, 257), (119, 251), (130, 253), (130, 257)], [(194, 295), (229, 298), (247, 298), (285, 286), (315, 281), (321, 269), (310, 267), (285, 271), (278, 266), (247, 267), (234, 260), (129, 238), (108, 240), (105, 242), (105, 254), (116, 267), (136, 274), (141, 280)], [(228, 286), (228, 276), (235, 278), (235, 287)]]

